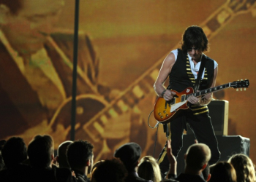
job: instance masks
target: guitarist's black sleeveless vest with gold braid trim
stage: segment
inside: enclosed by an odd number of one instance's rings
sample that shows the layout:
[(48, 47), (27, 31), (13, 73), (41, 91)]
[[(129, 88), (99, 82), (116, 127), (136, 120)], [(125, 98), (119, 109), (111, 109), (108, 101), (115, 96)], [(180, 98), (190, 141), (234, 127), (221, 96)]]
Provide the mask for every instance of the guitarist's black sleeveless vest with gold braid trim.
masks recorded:
[[(214, 79), (214, 60), (203, 55), (203, 59), (206, 59), (205, 74), (200, 81), (200, 89), (204, 90), (211, 87)], [(178, 49), (178, 56), (176, 63), (174, 63), (169, 75), (169, 87), (168, 89), (182, 92), (187, 87), (195, 87), (195, 76), (192, 74), (189, 58), (186, 53)], [(190, 106), (195, 115), (208, 112), (207, 106)]]

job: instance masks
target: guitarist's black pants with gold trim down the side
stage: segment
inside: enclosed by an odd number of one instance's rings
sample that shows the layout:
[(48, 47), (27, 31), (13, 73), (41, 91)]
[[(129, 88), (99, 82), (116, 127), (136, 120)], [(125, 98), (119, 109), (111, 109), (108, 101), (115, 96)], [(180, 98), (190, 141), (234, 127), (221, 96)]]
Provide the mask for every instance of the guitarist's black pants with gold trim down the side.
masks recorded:
[[(178, 152), (182, 147), (183, 132), (187, 124), (194, 132), (198, 143), (205, 143), (211, 149), (211, 159), (208, 162), (209, 165), (216, 163), (220, 158), (220, 152), (214, 128), (211, 124), (211, 117), (208, 116), (208, 113), (194, 115), (190, 109), (181, 112), (176, 119), (165, 124), (166, 135), (171, 139), (173, 155), (176, 158), (178, 157)], [(167, 145), (165, 144), (165, 147), (162, 149), (158, 159), (162, 174), (165, 174), (169, 170), (166, 146)]]

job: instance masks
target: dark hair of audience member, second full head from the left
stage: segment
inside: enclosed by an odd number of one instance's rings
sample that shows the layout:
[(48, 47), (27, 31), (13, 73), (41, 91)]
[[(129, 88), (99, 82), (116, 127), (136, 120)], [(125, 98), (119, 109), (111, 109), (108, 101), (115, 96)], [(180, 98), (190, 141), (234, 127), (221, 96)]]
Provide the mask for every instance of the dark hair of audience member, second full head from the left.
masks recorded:
[(29, 161), (33, 167), (49, 167), (53, 154), (53, 138), (37, 135), (28, 146)]

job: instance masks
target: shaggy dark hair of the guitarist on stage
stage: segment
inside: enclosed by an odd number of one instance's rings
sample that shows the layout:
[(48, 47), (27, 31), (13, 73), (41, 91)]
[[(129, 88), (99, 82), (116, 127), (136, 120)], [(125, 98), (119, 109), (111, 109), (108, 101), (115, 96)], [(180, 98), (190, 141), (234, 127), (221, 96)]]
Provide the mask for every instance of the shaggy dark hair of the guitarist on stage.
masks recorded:
[(191, 49), (193, 46), (195, 48), (206, 52), (209, 48), (208, 39), (203, 29), (197, 25), (189, 26), (186, 31), (184, 31), (181, 41), (181, 50), (187, 53), (187, 50)]

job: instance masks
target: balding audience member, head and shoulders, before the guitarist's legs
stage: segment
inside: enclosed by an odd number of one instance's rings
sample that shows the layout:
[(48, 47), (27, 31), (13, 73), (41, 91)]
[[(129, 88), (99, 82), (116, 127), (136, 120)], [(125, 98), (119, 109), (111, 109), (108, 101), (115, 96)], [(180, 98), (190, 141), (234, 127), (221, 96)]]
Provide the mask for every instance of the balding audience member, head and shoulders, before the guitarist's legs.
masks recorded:
[(205, 181), (203, 179), (202, 171), (208, 165), (208, 161), (211, 159), (211, 150), (206, 144), (195, 143), (189, 146), (187, 153), (184, 155), (185, 170), (184, 173), (178, 175), (176, 180), (180, 182), (187, 181)]

